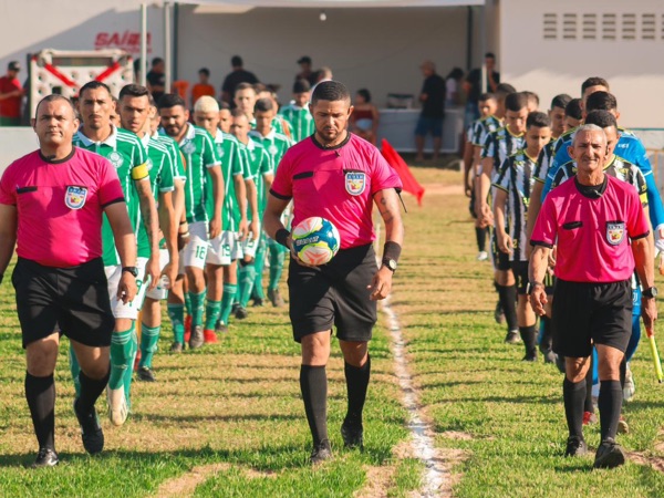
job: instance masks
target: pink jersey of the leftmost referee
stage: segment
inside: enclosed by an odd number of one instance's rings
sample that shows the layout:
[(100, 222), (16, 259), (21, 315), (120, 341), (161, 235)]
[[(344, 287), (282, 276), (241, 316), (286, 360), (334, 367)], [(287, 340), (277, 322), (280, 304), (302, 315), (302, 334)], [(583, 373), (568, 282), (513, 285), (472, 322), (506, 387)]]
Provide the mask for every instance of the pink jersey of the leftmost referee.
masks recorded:
[(73, 267), (102, 256), (102, 214), (124, 201), (113, 165), (74, 147), (49, 162), (37, 151), (0, 179), (0, 204), (18, 209), (17, 253), (46, 267)]

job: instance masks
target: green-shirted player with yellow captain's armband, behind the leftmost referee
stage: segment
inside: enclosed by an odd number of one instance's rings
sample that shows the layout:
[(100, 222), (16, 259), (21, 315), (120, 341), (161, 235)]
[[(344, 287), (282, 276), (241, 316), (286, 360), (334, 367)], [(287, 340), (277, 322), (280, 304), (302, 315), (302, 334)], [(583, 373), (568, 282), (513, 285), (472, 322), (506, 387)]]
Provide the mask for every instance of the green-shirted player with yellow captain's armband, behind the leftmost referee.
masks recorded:
[[(97, 81), (83, 85), (79, 98), (79, 112), (83, 118), (83, 126), (74, 136), (73, 142), (79, 147), (106, 157), (115, 166), (134, 227), (134, 235), (137, 236), (139, 230), (145, 229), (149, 240), (147, 250), (138, 255), (136, 268), (123, 268), (117, 257), (113, 230), (107, 219), (104, 219), (102, 227), (103, 259), (108, 288), (117, 288), (117, 282), (124, 271), (136, 276), (138, 287), (136, 299), (126, 304), (111, 293), (115, 329), (111, 343), (111, 378), (107, 387), (108, 417), (114, 425), (122, 425), (126, 421), (131, 407), (129, 390), (134, 359), (138, 350), (135, 321), (145, 291), (148, 288), (154, 289), (160, 268), (157, 211), (149, 183), (145, 148), (135, 134), (112, 125), (111, 112), (113, 110), (108, 86)], [(149, 284), (145, 286), (144, 283), (147, 281)], [(74, 382), (76, 382), (79, 365), (73, 355), (70, 355), (70, 364)]]

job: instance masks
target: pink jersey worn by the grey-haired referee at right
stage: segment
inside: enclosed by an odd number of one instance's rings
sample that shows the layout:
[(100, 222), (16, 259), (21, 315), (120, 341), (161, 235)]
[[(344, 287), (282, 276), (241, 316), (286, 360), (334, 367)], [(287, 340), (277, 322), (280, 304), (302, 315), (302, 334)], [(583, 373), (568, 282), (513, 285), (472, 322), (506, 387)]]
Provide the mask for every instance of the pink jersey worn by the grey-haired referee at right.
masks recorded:
[(599, 197), (587, 197), (570, 178), (547, 196), (531, 243), (558, 245), (556, 277), (570, 282), (619, 282), (634, 272), (630, 239), (650, 234), (639, 194), (605, 175)]

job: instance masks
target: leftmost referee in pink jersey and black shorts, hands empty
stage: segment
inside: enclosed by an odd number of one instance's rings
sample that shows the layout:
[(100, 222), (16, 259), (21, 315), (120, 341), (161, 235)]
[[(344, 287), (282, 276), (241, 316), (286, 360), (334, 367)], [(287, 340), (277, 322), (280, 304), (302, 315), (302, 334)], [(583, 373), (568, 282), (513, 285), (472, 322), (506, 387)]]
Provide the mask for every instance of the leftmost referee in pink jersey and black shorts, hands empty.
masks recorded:
[(115, 320), (102, 262), (102, 215), (106, 215), (123, 272), (117, 295), (134, 299), (136, 241), (113, 165), (72, 145), (79, 128), (72, 103), (44, 97), (32, 126), (40, 148), (13, 162), (0, 179), (0, 280), (14, 246), (12, 283), (27, 355), (25, 397), (39, 453), (33, 467), (58, 464), (53, 372), (61, 331), (81, 364), (74, 412), (83, 446), (104, 447), (94, 404), (108, 382), (108, 346)]

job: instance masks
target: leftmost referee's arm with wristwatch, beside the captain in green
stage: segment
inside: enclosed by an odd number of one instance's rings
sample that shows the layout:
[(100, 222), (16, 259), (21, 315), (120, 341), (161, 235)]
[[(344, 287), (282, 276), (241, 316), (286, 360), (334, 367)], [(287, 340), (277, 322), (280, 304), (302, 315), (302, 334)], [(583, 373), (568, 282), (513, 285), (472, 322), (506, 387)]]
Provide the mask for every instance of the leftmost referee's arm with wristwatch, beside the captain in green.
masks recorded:
[[(115, 248), (123, 267), (136, 266), (136, 237), (127, 214), (127, 205), (113, 203), (104, 208), (108, 224), (113, 230)], [(123, 271), (117, 286), (117, 298), (125, 304), (136, 295), (136, 279), (128, 271)]]

